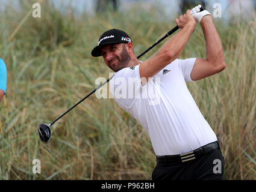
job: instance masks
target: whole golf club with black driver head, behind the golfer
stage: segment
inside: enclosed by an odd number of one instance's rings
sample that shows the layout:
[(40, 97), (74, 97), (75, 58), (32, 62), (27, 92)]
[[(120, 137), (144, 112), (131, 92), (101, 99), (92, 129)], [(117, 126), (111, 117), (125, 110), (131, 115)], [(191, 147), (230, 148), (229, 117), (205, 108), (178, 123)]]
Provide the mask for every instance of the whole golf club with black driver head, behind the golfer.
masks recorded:
[[(204, 11), (205, 8), (201, 7), (200, 8), (200, 12)], [(160, 43), (161, 41), (163, 41), (166, 37), (169, 37), (171, 34), (173, 34), (173, 32), (177, 31), (179, 29), (178, 26), (175, 26), (175, 28), (173, 28), (172, 30), (170, 30), (169, 32), (167, 32), (167, 34), (165, 34), (163, 37), (161, 37), (158, 41), (156, 41), (154, 44), (152, 44), (152, 46), (150, 46), (148, 49), (146, 49), (143, 53), (141, 53), (139, 56), (137, 56), (137, 59), (139, 59), (140, 57), (142, 57), (145, 53), (147, 53), (149, 50), (151, 50), (153, 47), (155, 47), (158, 43)], [(99, 85), (96, 89), (94, 89), (92, 92), (90, 92), (88, 95), (86, 95), (86, 97), (84, 97), (81, 101), (79, 101), (78, 103), (76, 103), (73, 107), (71, 107), (69, 110), (67, 110), (65, 113), (63, 113), (62, 115), (60, 115), (57, 119), (55, 119), (54, 121), (51, 122), (51, 124), (39, 124), (38, 127), (38, 133), (39, 133), (39, 137), (40, 140), (42, 140), (43, 143), (49, 143), (50, 139), (51, 139), (51, 125), (53, 125), (56, 121), (58, 121), (58, 119), (62, 118), (64, 115), (66, 115), (68, 112), (70, 112), (70, 110), (72, 110), (73, 108), (75, 108), (78, 104), (80, 104), (82, 101), (84, 101), (87, 97), (89, 97), (90, 95), (92, 95), (94, 92), (96, 92), (99, 88), (101, 88), (102, 86), (104, 86), (106, 83), (108, 83), (114, 76), (110, 77), (106, 82), (102, 83), (101, 85)]]

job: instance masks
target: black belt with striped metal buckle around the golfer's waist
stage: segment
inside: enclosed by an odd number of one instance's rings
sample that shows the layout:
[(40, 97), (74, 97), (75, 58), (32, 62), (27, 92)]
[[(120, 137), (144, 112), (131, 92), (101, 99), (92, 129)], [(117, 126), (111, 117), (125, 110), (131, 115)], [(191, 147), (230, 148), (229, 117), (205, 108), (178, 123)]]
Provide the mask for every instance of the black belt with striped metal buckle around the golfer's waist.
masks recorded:
[(184, 163), (195, 160), (196, 158), (199, 158), (202, 155), (213, 151), (214, 149), (220, 149), (217, 141), (201, 146), (201, 148), (195, 149), (194, 151), (186, 152), (185, 154), (164, 156), (157, 155), (157, 163)]

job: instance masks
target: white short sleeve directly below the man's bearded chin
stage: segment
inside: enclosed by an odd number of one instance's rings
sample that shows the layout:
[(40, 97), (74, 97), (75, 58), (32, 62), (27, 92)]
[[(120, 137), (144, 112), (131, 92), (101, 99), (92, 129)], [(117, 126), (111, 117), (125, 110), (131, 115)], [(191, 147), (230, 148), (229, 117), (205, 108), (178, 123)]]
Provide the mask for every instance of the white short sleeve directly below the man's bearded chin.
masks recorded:
[(123, 68), (114, 73), (110, 80), (110, 91), (122, 108), (131, 108), (134, 101), (140, 98), (142, 84), (140, 82), (139, 65)]

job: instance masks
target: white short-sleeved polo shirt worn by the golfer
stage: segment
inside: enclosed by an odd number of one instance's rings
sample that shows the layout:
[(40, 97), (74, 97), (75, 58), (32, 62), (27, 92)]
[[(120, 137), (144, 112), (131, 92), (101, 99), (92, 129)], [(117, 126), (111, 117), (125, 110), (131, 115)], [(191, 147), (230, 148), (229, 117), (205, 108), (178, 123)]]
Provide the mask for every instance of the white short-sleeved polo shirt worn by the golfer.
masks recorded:
[(140, 83), (140, 65), (114, 73), (110, 90), (123, 110), (149, 134), (156, 155), (183, 154), (217, 140), (186, 82), (196, 58), (176, 59)]

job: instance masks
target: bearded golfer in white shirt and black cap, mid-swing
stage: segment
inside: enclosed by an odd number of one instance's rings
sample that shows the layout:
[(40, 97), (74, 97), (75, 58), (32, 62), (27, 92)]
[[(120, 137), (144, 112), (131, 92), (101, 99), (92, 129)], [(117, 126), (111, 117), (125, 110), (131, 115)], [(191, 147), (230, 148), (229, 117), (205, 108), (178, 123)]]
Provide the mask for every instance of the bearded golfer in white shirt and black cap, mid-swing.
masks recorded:
[[(104, 32), (92, 50), (92, 56), (102, 56), (114, 71), (110, 84), (116, 102), (149, 134), (157, 155), (153, 180), (224, 179), (224, 158), (216, 134), (186, 86), (186, 82), (219, 73), (226, 66), (211, 14), (206, 10), (199, 12), (200, 8), (198, 5), (191, 12), (187, 10), (176, 19), (181, 30), (144, 62), (134, 55), (128, 34), (117, 29)], [(200, 23), (204, 32), (206, 59), (178, 59), (196, 23)], [(139, 79), (133, 98), (116, 97), (115, 89), (119, 85), (114, 81), (120, 78), (125, 79), (125, 95), (128, 95), (129, 79)], [(155, 83), (157, 78), (160, 86)], [(151, 91), (147, 86), (152, 87)], [(157, 95), (159, 102), (151, 104), (149, 99), (141, 98), (146, 91)]]

